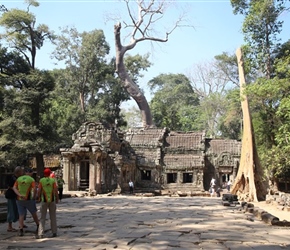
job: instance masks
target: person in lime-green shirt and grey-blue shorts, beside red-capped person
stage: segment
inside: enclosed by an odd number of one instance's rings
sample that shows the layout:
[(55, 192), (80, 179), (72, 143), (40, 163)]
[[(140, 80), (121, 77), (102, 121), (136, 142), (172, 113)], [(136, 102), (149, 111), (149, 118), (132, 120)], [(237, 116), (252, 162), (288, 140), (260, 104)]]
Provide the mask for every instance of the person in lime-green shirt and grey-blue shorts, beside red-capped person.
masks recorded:
[(23, 228), (24, 228), (24, 217), (26, 216), (27, 210), (33, 217), (33, 220), (37, 226), (39, 226), (39, 221), (37, 217), (37, 208), (35, 204), (35, 180), (24, 174), (17, 178), (14, 183), (13, 190), (17, 194), (17, 208), (19, 214), (19, 236), (23, 236)]

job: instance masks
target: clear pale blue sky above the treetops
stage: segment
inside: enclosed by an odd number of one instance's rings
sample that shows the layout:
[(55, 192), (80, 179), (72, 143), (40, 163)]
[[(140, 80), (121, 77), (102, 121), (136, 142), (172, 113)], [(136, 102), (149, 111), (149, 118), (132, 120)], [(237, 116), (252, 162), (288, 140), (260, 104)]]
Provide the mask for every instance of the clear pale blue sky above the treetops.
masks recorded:
[[(120, 21), (125, 20), (127, 12), (125, 5), (118, 0), (90, 0), (90, 1), (38, 1), (40, 6), (32, 7), (31, 12), (36, 15), (37, 23), (49, 26), (51, 30), (59, 33), (59, 27), (74, 26), (78, 31), (91, 31), (102, 29), (106, 40), (111, 47), (111, 55), (114, 56), (114, 24), (116, 21), (107, 20), (107, 16), (119, 15)], [(24, 1), (2, 0), (8, 9), (26, 9)], [(149, 42), (142, 42), (129, 53), (150, 53), (153, 63), (148, 71), (144, 72), (144, 78), (139, 85), (145, 89), (147, 99), (150, 99), (146, 84), (153, 77), (161, 73), (186, 74), (194, 64), (211, 61), (215, 55), (222, 52), (235, 52), (243, 44), (241, 27), (243, 16), (233, 14), (228, 0), (176, 0), (172, 9), (169, 9), (164, 19), (168, 24), (178, 18), (182, 9), (187, 11), (187, 20), (194, 28), (180, 28), (173, 32), (167, 43), (159, 43), (151, 47)], [(290, 14), (283, 15), (285, 20), (281, 34), (283, 41), (290, 38)], [(160, 28), (161, 29), (161, 28)], [(121, 34), (125, 35), (122, 30)], [(160, 31), (161, 32), (161, 31)], [(53, 47), (45, 44), (38, 52), (36, 65), (40, 69), (53, 69), (61, 67), (55, 65), (50, 59)], [(149, 100), (148, 100), (149, 101)]]

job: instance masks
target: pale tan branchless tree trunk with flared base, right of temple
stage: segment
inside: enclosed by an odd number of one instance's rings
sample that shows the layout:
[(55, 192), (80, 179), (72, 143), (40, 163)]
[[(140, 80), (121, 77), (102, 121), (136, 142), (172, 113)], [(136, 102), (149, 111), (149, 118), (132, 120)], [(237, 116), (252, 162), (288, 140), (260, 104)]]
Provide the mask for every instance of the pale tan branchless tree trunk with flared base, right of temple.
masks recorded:
[(237, 49), (236, 55), (239, 67), (240, 95), (243, 112), (243, 137), (239, 171), (231, 193), (237, 194), (240, 200), (259, 201), (265, 199), (266, 188), (263, 183), (263, 170), (255, 144), (249, 103), (244, 93), (246, 83), (241, 48)]

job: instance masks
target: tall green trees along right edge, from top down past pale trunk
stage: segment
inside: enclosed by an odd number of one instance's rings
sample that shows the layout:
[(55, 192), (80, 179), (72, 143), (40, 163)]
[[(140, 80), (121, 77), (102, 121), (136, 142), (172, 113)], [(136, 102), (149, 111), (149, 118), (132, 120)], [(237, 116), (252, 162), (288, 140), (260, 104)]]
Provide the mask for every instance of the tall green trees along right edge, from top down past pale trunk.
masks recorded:
[[(269, 175), (290, 177), (289, 155), (289, 41), (279, 44), (286, 9), (281, 0), (231, 0), (235, 14), (245, 16), (247, 67), (253, 73), (247, 87), (256, 145)], [(250, 81), (249, 81), (250, 79)]]

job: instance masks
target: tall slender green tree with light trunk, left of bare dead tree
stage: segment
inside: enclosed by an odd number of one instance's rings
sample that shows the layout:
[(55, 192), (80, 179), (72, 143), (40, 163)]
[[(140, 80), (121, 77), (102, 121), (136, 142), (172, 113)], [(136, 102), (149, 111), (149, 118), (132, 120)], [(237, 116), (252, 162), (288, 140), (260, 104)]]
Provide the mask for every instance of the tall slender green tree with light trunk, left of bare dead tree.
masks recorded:
[(104, 67), (106, 56), (110, 51), (102, 30), (78, 32), (76, 28), (64, 28), (56, 39), (54, 56), (64, 61), (66, 71), (64, 77), (70, 88), (79, 94), (79, 106), (86, 113), (88, 98), (94, 96), (99, 84), (106, 75)]

